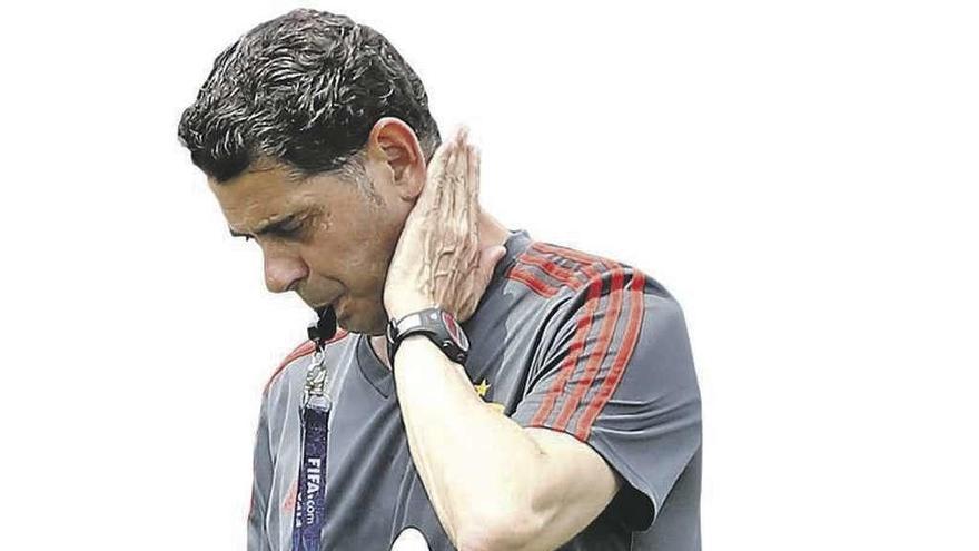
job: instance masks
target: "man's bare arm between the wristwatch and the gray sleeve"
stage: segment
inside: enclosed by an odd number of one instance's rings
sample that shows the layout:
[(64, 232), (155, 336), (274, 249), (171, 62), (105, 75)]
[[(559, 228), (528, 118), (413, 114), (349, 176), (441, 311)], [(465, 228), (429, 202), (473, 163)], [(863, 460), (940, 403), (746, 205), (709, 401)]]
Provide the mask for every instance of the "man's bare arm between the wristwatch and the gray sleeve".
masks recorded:
[(412, 459), (458, 549), (555, 549), (615, 495), (591, 446), (488, 407), (427, 338), (402, 344), (395, 376)]

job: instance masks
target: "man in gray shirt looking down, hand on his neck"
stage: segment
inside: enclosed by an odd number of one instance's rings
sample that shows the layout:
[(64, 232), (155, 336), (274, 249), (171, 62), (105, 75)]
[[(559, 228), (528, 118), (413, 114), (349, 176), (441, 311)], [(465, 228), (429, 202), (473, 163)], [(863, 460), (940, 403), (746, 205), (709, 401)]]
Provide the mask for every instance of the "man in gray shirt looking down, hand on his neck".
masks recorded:
[(384, 37), (263, 23), (179, 135), (269, 291), (326, 321), (263, 396), (249, 550), (700, 549), (679, 305), (481, 210), (477, 151)]

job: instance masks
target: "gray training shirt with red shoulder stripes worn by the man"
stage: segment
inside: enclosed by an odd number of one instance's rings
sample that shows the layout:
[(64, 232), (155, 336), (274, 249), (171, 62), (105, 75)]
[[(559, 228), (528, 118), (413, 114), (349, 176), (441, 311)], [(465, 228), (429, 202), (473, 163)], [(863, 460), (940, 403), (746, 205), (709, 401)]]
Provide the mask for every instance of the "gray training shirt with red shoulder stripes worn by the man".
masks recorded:
[[(637, 269), (524, 230), (505, 246), (462, 324), (474, 388), (522, 426), (592, 446), (624, 481), (560, 549), (699, 550), (701, 405), (676, 301)], [(290, 549), (312, 352), (312, 342), (296, 348), (263, 394), (249, 551)], [(388, 550), (412, 528), (432, 550), (454, 549), (412, 463), (392, 374), (368, 337), (338, 332), (325, 362), (334, 405), (322, 549)]]

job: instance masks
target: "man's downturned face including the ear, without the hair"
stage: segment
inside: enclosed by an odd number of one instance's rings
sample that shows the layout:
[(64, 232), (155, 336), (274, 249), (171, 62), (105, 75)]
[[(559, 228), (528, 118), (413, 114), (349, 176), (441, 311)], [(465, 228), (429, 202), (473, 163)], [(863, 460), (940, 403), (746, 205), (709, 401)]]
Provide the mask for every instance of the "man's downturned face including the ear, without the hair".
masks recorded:
[(293, 291), (313, 308), (333, 305), (347, 331), (384, 333), (387, 267), (424, 185), (424, 157), (407, 132), (375, 126), (365, 164), (373, 193), (336, 174), (295, 179), (271, 160), (221, 184), (209, 180), (231, 234), (261, 248), (269, 291)]

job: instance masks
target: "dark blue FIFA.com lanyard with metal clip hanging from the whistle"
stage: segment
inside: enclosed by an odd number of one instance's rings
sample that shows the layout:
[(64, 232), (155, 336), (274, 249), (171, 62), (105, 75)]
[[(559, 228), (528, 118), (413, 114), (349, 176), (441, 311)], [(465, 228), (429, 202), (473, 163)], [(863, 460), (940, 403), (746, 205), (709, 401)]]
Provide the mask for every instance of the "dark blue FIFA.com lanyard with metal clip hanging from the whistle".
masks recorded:
[(326, 514), (326, 449), (329, 399), (324, 393), (326, 368), (317, 350), (306, 376), (303, 399), (303, 461), (293, 518), (293, 551), (320, 551), (319, 540)]

